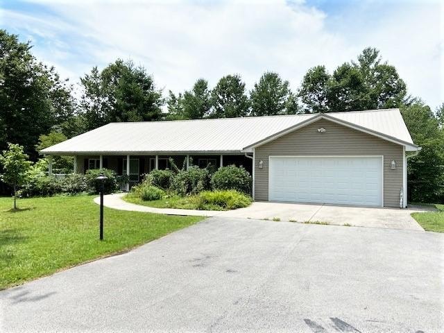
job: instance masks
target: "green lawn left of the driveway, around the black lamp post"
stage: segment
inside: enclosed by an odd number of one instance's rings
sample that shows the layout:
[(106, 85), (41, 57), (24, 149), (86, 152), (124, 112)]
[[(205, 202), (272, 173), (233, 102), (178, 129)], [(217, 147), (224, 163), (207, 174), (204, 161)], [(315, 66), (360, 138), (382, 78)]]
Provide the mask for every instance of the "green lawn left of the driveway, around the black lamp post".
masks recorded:
[(99, 205), (93, 196), (0, 198), (0, 289), (22, 284), (99, 257), (122, 253), (202, 217), (104, 210), (99, 241)]

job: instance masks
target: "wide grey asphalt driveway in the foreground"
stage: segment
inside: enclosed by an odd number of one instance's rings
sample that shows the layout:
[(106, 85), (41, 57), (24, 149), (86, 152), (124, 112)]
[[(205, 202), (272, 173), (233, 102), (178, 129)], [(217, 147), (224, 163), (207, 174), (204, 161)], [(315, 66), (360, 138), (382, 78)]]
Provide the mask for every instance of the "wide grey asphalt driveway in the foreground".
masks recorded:
[(1, 331), (443, 332), (444, 235), (214, 217), (0, 292)]

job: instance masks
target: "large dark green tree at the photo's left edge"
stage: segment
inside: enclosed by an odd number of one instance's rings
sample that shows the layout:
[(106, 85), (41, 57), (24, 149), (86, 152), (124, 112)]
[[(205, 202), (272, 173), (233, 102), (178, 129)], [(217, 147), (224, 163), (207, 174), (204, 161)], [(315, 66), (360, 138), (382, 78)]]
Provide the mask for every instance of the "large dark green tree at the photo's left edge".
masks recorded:
[(37, 62), (31, 47), (0, 30), (0, 149), (17, 142), (36, 159), (39, 135), (72, 116), (74, 99), (67, 81)]

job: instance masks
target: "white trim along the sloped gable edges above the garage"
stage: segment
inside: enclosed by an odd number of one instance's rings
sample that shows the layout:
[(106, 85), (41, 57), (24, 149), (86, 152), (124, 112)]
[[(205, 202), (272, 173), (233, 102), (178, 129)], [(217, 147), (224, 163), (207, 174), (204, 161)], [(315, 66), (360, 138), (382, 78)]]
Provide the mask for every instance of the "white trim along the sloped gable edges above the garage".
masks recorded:
[(366, 128), (362, 127), (362, 126), (357, 126), (355, 124), (349, 123), (348, 121), (339, 120), (339, 119), (336, 119), (336, 118), (334, 118), (332, 116), (329, 116), (327, 114), (318, 114), (317, 116), (315, 116), (313, 118), (310, 118), (310, 119), (307, 119), (305, 121), (302, 121), (302, 122), (296, 124), (295, 126), (291, 126), (290, 128), (287, 128), (286, 130), (282, 130), (281, 132), (275, 133), (274, 135), (271, 135), (270, 137), (267, 137), (267, 138), (262, 139), (262, 140), (260, 140), (258, 142), (255, 142), (254, 144), (250, 144), (250, 146), (246, 146), (242, 150), (246, 151), (249, 148), (256, 148), (258, 146), (262, 146), (262, 145), (264, 145), (264, 144), (266, 144), (268, 142), (271, 142), (271, 141), (273, 141), (275, 139), (278, 139), (279, 137), (282, 137), (284, 135), (292, 133), (293, 131), (298, 130), (299, 128), (308, 126), (309, 124), (314, 123), (314, 122), (316, 122), (318, 120), (321, 120), (321, 119), (329, 120), (329, 121), (332, 121), (333, 123), (339, 123), (342, 126), (345, 126), (345, 127), (348, 127), (348, 128), (352, 128), (354, 130), (359, 130), (361, 132), (367, 133), (368, 135), (373, 135), (375, 137), (379, 137), (380, 139), (384, 139), (384, 140), (386, 140), (388, 142), (393, 142), (395, 144), (400, 144), (401, 146), (410, 148), (408, 151), (418, 151), (418, 148), (419, 148), (415, 144), (409, 144), (409, 142), (404, 142), (402, 140), (398, 140), (398, 139), (395, 139), (393, 137), (389, 137), (388, 135), (384, 135), (382, 133), (378, 133), (376, 131), (366, 129)]

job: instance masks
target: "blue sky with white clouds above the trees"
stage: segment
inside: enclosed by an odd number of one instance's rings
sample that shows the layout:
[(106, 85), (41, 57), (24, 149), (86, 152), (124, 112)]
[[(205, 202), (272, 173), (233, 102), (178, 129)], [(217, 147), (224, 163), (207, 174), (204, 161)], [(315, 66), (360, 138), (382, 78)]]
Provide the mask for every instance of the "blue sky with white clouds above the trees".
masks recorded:
[(307, 69), (332, 71), (366, 46), (398, 68), (409, 94), (444, 102), (444, 5), (436, 0), (0, 1), (0, 26), (78, 83), (94, 65), (132, 59), (180, 92), (238, 73), (250, 89), (267, 70), (296, 90)]

